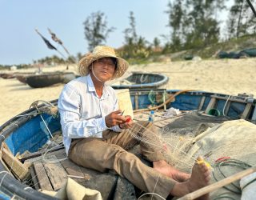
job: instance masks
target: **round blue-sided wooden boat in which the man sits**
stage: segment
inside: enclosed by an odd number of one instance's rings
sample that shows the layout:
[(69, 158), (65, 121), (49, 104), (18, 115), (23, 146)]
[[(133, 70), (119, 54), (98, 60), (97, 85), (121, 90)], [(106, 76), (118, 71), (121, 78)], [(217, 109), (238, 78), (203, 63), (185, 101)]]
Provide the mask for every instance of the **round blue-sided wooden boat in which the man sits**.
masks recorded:
[[(135, 90), (130, 91), (130, 100), (135, 122), (147, 120), (150, 110), (148, 106), (157, 106), (154, 124), (159, 130), (172, 123), (174, 118), (182, 118), (195, 110), (201, 119), (216, 120), (218, 123), (240, 118), (256, 122), (256, 99), (246, 94), (231, 96), (193, 90)], [(51, 104), (43, 102), (41, 105), (34, 102), (30, 110), (0, 126), (0, 146), (3, 148), (4, 161), (0, 162), (0, 198), (10, 199), (15, 195), (15, 199), (55, 199), (38, 190), (58, 190), (66, 182), (66, 177), (70, 176), (82, 186), (99, 190), (103, 199), (137, 199), (134, 186), (126, 179), (76, 166), (69, 159), (65, 159), (63, 146), (58, 142), (50, 149), (40, 150), (49, 142), (50, 133), (61, 133), (58, 114), (49, 113), (57, 102), (58, 100)], [(170, 107), (181, 110), (182, 114), (175, 117), (164, 116), (164, 110)], [(30, 153), (18, 158), (17, 154), (26, 151)], [(58, 163), (46, 162), (46, 153), (58, 158)], [(28, 164), (30, 168), (27, 167)], [(25, 174), (32, 174), (32, 178), (25, 178)], [(85, 174), (90, 174), (91, 182), (84, 179)], [(31, 182), (33, 187), (30, 187)], [(95, 182), (98, 184), (93, 184)], [(102, 182), (106, 184), (104, 188), (101, 188)]]

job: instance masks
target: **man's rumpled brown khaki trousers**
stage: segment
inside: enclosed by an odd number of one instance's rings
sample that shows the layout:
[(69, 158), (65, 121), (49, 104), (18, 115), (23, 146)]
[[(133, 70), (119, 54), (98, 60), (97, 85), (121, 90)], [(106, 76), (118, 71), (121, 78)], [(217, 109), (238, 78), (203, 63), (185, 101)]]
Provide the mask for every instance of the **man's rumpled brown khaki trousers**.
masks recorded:
[(121, 133), (103, 132), (103, 138), (81, 138), (71, 143), (69, 158), (79, 166), (105, 172), (114, 170), (145, 192), (154, 192), (166, 198), (174, 180), (143, 164), (127, 152), (140, 144), (143, 156), (151, 162), (164, 159), (162, 143), (155, 127), (149, 122), (137, 122)]

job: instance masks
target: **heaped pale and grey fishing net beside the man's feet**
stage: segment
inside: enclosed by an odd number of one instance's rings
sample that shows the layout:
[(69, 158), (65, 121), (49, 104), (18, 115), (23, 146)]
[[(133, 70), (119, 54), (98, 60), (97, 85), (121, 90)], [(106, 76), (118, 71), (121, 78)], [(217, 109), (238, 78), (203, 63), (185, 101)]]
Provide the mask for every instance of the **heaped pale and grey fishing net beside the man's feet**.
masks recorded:
[[(256, 164), (256, 126), (245, 120), (205, 118), (188, 114), (162, 129), (166, 161), (179, 170), (190, 173), (198, 155), (210, 163), (212, 183), (246, 170)], [(223, 122), (223, 123), (221, 123)], [(240, 199), (239, 182), (215, 190), (210, 199)]]

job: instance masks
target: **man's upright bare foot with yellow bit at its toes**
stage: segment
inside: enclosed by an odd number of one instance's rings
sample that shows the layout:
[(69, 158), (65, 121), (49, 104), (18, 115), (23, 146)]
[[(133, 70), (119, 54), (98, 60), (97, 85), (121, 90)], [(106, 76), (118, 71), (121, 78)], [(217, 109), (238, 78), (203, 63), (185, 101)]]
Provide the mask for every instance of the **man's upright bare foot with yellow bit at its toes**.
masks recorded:
[[(198, 157), (198, 160), (202, 158)], [(170, 194), (182, 197), (186, 194), (194, 192), (204, 186), (208, 186), (210, 182), (210, 169), (206, 166), (205, 163), (198, 164), (194, 163), (192, 168), (191, 178), (186, 182), (177, 182), (174, 185), (173, 190), (171, 190)], [(198, 199), (209, 199), (209, 194), (203, 195)]]

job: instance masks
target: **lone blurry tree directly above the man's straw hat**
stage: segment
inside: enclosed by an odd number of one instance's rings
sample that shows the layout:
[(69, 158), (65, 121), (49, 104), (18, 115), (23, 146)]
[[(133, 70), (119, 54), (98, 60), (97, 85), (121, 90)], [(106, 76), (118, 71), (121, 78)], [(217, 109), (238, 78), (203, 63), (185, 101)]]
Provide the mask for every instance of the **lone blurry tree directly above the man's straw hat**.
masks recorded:
[(108, 28), (106, 16), (104, 13), (98, 11), (90, 14), (83, 22), (85, 26), (85, 36), (88, 42), (88, 50), (93, 50), (95, 46), (102, 45), (106, 42), (110, 32), (115, 30), (114, 27)]

